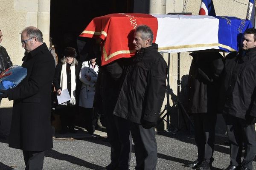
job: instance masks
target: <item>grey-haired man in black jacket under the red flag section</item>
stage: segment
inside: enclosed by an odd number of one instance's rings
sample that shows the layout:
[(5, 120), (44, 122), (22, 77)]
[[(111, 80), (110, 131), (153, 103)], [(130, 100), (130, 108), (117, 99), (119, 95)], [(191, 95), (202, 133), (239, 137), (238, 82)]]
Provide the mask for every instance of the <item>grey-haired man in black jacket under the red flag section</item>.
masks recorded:
[(154, 126), (166, 92), (167, 64), (152, 43), (153, 32), (138, 26), (134, 33), (137, 54), (129, 66), (113, 115), (130, 121), (136, 170), (155, 170), (157, 143)]

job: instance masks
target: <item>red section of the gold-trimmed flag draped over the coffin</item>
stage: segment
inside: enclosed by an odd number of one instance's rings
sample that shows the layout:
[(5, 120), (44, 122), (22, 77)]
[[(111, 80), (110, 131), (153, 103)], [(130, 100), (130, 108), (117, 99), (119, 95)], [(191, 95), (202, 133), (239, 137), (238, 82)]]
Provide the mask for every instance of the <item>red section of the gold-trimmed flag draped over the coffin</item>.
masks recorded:
[(80, 37), (101, 38), (102, 65), (116, 59), (133, 57), (135, 54), (133, 41), (134, 28), (147, 25), (157, 36), (157, 18), (150, 14), (108, 14), (94, 18)]

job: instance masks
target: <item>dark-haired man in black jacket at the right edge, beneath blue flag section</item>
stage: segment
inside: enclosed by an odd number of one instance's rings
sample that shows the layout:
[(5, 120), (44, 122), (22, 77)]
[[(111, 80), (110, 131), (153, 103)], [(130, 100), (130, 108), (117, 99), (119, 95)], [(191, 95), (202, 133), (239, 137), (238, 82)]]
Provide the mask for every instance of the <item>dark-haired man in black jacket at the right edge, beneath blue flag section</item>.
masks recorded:
[[(220, 111), (230, 142), (230, 166), (226, 170), (252, 170), (256, 154), (256, 29), (247, 29), (241, 50), (225, 59)], [(241, 161), (243, 142), (245, 155)]]

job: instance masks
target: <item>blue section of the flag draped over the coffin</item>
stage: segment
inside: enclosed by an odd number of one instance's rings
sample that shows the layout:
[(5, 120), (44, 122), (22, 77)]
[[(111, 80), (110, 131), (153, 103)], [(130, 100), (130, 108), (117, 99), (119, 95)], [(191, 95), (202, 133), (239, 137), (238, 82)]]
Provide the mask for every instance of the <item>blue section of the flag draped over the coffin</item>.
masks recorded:
[(214, 17), (219, 19), (218, 43), (227, 46), (227, 48), (221, 46), (219, 48), (226, 52), (231, 52), (228, 47), (239, 51), (242, 34), (247, 28), (252, 28), (250, 20), (237, 17)]

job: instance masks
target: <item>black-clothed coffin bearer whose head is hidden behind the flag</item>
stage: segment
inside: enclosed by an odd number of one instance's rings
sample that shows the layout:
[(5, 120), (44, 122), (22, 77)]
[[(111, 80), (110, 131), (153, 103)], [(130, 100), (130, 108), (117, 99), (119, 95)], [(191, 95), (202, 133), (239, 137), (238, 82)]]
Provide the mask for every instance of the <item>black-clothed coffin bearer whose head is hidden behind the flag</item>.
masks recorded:
[(209, 170), (214, 151), (219, 76), (224, 68), (218, 51), (200, 51), (193, 57), (188, 79), (188, 113), (193, 115), (198, 158), (186, 164), (198, 170)]

